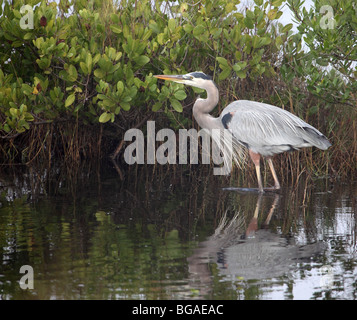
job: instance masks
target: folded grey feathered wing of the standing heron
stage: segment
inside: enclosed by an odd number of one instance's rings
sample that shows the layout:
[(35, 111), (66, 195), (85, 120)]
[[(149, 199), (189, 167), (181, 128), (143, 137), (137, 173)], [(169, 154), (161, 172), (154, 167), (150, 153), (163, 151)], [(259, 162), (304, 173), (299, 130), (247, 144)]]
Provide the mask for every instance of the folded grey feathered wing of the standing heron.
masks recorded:
[[(290, 112), (269, 104), (236, 101), (224, 109), (221, 117), (223, 125), (238, 141), (265, 156), (302, 147), (326, 149), (330, 146), (317, 129)], [(229, 121), (224, 123), (224, 120)]]

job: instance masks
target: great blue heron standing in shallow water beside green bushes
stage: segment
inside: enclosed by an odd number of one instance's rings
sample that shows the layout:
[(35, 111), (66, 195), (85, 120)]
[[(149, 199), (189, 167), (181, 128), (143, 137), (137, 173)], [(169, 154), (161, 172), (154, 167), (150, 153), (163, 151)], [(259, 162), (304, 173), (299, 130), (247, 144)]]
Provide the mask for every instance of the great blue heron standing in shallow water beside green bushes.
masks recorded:
[(207, 91), (206, 99), (196, 100), (193, 106), (193, 116), (201, 128), (228, 129), (239, 147), (244, 146), (248, 149), (255, 165), (261, 193), (264, 192), (260, 174), (261, 156), (267, 157), (274, 178), (273, 189), (279, 190), (280, 183), (273, 166), (272, 156), (304, 147), (315, 146), (326, 150), (331, 146), (320, 131), (305, 121), (286, 110), (266, 103), (248, 100), (234, 101), (224, 108), (218, 118), (212, 117), (209, 112), (217, 105), (219, 92), (212, 78), (203, 72), (154, 77)]

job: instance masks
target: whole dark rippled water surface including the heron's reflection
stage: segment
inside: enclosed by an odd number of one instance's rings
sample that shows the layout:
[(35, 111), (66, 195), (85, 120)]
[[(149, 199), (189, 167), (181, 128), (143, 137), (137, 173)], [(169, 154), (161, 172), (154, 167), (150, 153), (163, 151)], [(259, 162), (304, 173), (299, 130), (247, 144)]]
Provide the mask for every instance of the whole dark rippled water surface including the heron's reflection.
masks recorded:
[(0, 299), (356, 299), (356, 182), (152, 171), (2, 173)]

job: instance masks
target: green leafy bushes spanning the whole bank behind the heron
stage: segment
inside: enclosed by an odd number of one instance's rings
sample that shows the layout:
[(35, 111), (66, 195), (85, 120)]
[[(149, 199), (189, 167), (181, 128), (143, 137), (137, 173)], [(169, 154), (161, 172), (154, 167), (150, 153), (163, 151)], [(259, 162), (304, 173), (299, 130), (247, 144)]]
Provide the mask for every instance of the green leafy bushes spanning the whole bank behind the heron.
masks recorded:
[[(321, 17), (316, 12), (302, 9), (299, 0), (287, 1), (299, 20), (298, 34), (292, 24), (277, 23), (283, 0), (255, 0), (243, 12), (237, 10), (239, 0), (32, 0), (27, 4), (33, 7), (33, 29), (20, 26), (23, 2), (0, 1), (0, 137), (5, 159), (23, 157), (35, 136), (29, 133), (40, 127), (48, 136), (65, 130), (57, 133), (64, 137), (62, 143), (78, 128), (98, 128), (100, 148), (102, 141), (119, 143), (127, 129), (143, 126), (149, 118), (166, 126), (192, 126), (191, 108), (185, 108), (193, 101), (192, 90), (158, 84), (154, 74), (204, 71), (221, 88), (223, 105), (252, 98), (290, 106), (300, 116), (315, 116), (318, 121), (311, 119), (312, 124), (319, 128), (325, 124), (316, 113), (325, 105), (311, 95), (328, 103), (356, 103), (356, 71), (348, 68), (355, 59), (356, 21), (347, 0), (345, 13), (335, 5), (342, 31), (318, 30)], [(309, 53), (302, 50), (303, 34)], [(332, 54), (335, 46), (342, 48), (339, 54), (346, 63), (341, 65)], [(335, 62), (350, 82), (334, 76), (336, 71), (321, 73), (319, 66)], [(68, 123), (64, 129), (63, 123)], [(72, 134), (71, 124), (77, 130)], [(16, 152), (9, 152), (11, 148)]]

